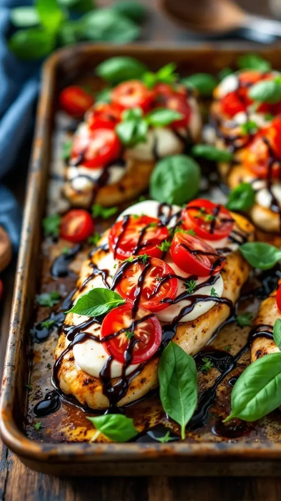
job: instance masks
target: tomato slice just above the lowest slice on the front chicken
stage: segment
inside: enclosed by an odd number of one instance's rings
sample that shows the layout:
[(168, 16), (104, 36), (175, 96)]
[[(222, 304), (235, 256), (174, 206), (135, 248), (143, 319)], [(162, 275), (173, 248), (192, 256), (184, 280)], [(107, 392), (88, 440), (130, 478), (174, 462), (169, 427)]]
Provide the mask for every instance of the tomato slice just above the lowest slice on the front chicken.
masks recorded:
[(116, 287), (117, 293), (122, 298), (133, 301), (137, 292), (138, 279), (142, 272), (144, 279), (140, 286), (139, 304), (151, 312), (164, 310), (168, 304), (161, 303), (161, 300), (175, 297), (178, 280), (175, 278), (172, 268), (160, 259), (149, 258), (144, 264), (141, 260), (131, 263), (123, 271), (122, 279)]

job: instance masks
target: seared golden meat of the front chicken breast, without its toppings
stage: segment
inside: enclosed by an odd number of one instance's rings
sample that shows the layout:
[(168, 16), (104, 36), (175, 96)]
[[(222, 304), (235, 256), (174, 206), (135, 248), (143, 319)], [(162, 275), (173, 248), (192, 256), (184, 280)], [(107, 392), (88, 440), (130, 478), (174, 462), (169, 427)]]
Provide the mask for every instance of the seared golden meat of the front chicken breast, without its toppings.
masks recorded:
[[(241, 230), (248, 234), (248, 239), (252, 239), (253, 227), (251, 224), (240, 215), (232, 214), (232, 216), (237, 221)], [(101, 243), (107, 240), (107, 234), (108, 232), (104, 233)], [(108, 286), (110, 286), (112, 280), (110, 275), (93, 275), (93, 270), (95, 270), (96, 267), (101, 267), (103, 269), (105, 264), (104, 260), (106, 260), (106, 251), (97, 249), (93, 252), (92, 256), (83, 263), (80, 276), (77, 281), (77, 291), (75, 292), (73, 299), (77, 299), (90, 289), (101, 287), (102, 282), (104, 284), (104, 281)], [(235, 250), (235, 252), (227, 255), (224, 269), (221, 271), (223, 280), (223, 298), (230, 300), (233, 304), (235, 303), (239, 297), (242, 285), (248, 278), (249, 270), (250, 267), (239, 253), (239, 250)], [(229, 311), (230, 308), (227, 304), (216, 303), (210, 310), (203, 315), (198, 316), (194, 320), (179, 323), (177, 325), (173, 341), (184, 349), (186, 353), (195, 355), (195, 353), (197, 353), (209, 341), (217, 328), (227, 319)], [(87, 317), (69, 313), (65, 317), (65, 323), (63, 326), (64, 331), (67, 331), (67, 326), (78, 326), (87, 320)], [(85, 332), (98, 335), (99, 328), (100, 327), (97, 323), (92, 323), (90, 326), (87, 326)], [(83, 329), (79, 332), (83, 332)], [(56, 360), (67, 348), (68, 344), (69, 341), (67, 340), (67, 336), (62, 330), (55, 350)], [(92, 356), (96, 357), (94, 352), (97, 350), (95, 345), (98, 343), (92, 341), (92, 344), (93, 346), (90, 347), (90, 349), (92, 349)], [(80, 344), (80, 350), (83, 350), (82, 345), (83, 343)], [(78, 366), (73, 352), (74, 350), (72, 349), (66, 351), (64, 356), (60, 359), (61, 363), (57, 371), (57, 379), (61, 390), (65, 394), (72, 394), (80, 403), (87, 404), (93, 409), (108, 407), (109, 402), (104, 394), (101, 380), (98, 377), (93, 377), (89, 373), (83, 371)], [(102, 367), (102, 364), (104, 363), (104, 360), (102, 361), (102, 357), (105, 359), (105, 355), (101, 354), (100, 357), (101, 360), (99, 360), (99, 363), (101, 363)], [(158, 385), (158, 363), (159, 357), (155, 356), (145, 362), (142, 366), (138, 366), (135, 376), (131, 378), (128, 384), (125, 395), (118, 402), (119, 406), (137, 400)], [(113, 377), (111, 384), (116, 384), (117, 381), (118, 378)]]

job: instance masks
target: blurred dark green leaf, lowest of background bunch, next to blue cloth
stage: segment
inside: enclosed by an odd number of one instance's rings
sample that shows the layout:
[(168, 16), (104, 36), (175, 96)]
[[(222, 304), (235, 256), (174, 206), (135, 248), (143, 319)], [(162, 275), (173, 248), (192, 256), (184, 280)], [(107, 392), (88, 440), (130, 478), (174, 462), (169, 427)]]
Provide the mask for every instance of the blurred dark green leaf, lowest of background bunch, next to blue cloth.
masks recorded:
[(18, 30), (8, 41), (9, 49), (23, 60), (42, 59), (54, 49), (54, 46), (53, 34), (40, 28)]

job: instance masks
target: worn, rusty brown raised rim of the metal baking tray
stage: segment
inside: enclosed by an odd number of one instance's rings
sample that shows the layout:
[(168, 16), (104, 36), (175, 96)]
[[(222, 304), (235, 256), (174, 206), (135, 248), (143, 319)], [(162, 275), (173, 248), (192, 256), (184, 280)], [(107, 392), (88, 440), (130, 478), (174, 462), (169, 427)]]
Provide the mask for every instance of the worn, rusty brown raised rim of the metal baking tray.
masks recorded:
[[(221, 50), (137, 45), (81, 45), (63, 49), (45, 63), (29, 167), (21, 245), (18, 256), (9, 336), (0, 399), (0, 433), (21, 461), (37, 471), (63, 475), (278, 475), (278, 440), (161, 443), (49, 443), (28, 438), (23, 429), (28, 381), (30, 317), (40, 276), (41, 219), (50, 163), (53, 116), (60, 88), (93, 72), (96, 64), (114, 55), (129, 55), (151, 70), (174, 61), (189, 73), (217, 73), (235, 64), (248, 49)], [(260, 51), (261, 52), (261, 51)], [(262, 51), (281, 69), (281, 49)]]

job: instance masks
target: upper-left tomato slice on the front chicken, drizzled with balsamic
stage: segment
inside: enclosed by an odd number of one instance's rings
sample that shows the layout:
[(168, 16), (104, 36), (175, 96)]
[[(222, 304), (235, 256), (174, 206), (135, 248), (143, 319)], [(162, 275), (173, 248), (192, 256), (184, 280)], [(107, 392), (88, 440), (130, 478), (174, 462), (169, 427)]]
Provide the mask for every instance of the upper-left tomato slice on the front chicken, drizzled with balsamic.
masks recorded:
[(168, 228), (156, 217), (130, 215), (112, 226), (108, 241), (116, 259), (124, 260), (132, 254), (160, 258), (163, 253), (157, 245), (168, 236)]

